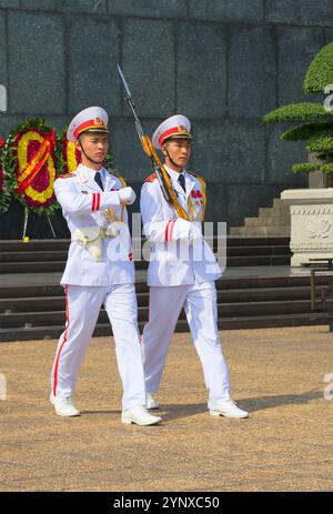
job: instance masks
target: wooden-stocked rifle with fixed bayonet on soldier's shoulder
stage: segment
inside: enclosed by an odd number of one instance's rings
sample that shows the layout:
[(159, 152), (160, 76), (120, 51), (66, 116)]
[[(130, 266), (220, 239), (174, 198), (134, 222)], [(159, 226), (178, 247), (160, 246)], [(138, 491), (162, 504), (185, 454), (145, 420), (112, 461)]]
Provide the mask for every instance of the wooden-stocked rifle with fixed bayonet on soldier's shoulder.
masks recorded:
[(161, 162), (161, 160), (160, 160), (160, 158), (159, 158), (159, 155), (158, 155), (158, 153), (157, 153), (157, 151), (155, 151), (155, 149), (153, 147), (153, 143), (152, 143), (150, 137), (145, 135), (143, 130), (142, 130), (140, 120), (139, 120), (138, 114), (135, 112), (135, 104), (133, 102), (131, 91), (129, 89), (128, 82), (127, 82), (127, 80), (124, 78), (124, 74), (121, 71), (121, 68), (120, 68), (119, 64), (118, 64), (118, 72), (120, 74), (120, 78), (122, 80), (124, 90), (127, 92), (127, 95), (124, 97), (124, 99), (129, 103), (129, 105), (131, 108), (131, 111), (132, 111), (132, 113), (134, 115), (135, 128), (137, 128), (139, 139), (141, 141), (141, 144), (142, 144), (142, 148), (143, 148), (144, 152), (147, 153), (147, 155), (151, 160), (151, 163), (152, 163), (153, 170), (154, 170), (154, 172), (157, 174), (157, 178), (158, 178), (162, 194), (163, 194), (164, 199), (167, 200), (167, 202), (169, 202), (169, 203), (171, 203), (173, 205), (173, 208), (174, 208), (174, 210), (176, 212), (176, 215), (179, 218), (183, 218), (184, 220), (189, 220), (189, 214), (186, 213), (186, 211), (179, 203), (179, 201), (176, 199), (176, 193), (174, 192), (174, 190), (172, 188), (170, 177), (169, 177), (167, 170), (164, 169), (164, 167), (163, 167), (163, 164), (162, 164), (162, 162)]

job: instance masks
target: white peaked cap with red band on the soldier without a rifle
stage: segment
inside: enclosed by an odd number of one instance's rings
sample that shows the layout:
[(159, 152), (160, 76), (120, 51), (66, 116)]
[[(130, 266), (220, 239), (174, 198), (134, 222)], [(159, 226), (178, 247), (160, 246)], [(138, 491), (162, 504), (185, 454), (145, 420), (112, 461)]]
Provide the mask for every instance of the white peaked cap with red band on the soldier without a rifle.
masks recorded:
[(109, 132), (108, 120), (108, 112), (104, 109), (89, 107), (72, 119), (67, 131), (67, 139), (74, 142), (83, 132)]

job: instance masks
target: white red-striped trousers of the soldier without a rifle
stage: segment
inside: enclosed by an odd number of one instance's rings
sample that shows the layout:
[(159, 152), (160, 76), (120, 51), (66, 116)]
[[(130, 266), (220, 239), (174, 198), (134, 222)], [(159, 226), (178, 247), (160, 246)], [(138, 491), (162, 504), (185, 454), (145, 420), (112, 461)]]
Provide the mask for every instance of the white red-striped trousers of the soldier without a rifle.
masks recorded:
[(67, 324), (51, 372), (56, 396), (71, 396), (102, 304), (112, 325), (118, 370), (122, 380), (122, 409), (145, 405), (144, 375), (133, 284), (112, 286), (67, 285)]

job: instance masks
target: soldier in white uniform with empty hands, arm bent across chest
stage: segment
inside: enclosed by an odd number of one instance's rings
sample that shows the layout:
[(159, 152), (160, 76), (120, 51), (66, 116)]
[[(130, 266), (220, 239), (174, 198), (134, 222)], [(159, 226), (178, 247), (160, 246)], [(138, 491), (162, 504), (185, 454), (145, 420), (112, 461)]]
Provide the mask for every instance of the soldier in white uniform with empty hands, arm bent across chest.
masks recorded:
[(81, 111), (68, 129), (69, 141), (81, 151), (74, 173), (59, 177), (54, 192), (71, 232), (61, 284), (65, 290), (67, 323), (51, 372), (50, 401), (60, 416), (80, 414), (73, 393), (80, 365), (101, 305), (110, 319), (123, 384), (122, 423), (161, 421), (145, 407), (134, 290), (134, 264), (127, 204), (135, 193), (122, 178), (103, 168), (108, 152), (108, 114), (98, 107)]

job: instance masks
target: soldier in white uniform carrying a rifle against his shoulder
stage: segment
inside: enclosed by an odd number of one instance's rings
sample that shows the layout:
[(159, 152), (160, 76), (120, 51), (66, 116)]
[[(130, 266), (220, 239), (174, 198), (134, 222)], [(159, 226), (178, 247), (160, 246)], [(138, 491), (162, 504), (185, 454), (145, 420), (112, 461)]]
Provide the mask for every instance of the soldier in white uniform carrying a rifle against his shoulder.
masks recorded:
[(176, 216), (174, 208), (164, 200), (154, 173), (141, 191), (143, 228), (151, 243), (149, 321), (141, 342), (147, 405), (159, 407), (152, 393), (160, 386), (170, 341), (184, 308), (203, 367), (210, 414), (248, 417), (249, 413), (239, 409), (230, 396), (228, 366), (218, 332), (214, 284), (222, 273), (202, 238), (205, 182), (185, 169), (191, 154), (190, 130), (188, 118), (176, 114), (161, 123), (152, 138), (154, 148), (163, 152), (164, 168), (189, 220)]

